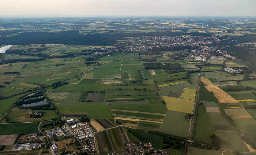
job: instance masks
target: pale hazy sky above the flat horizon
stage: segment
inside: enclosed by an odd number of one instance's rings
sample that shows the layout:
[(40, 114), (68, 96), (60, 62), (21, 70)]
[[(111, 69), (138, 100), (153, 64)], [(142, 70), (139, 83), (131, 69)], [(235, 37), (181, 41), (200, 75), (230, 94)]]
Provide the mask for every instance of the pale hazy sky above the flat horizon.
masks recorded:
[(256, 0), (0, 0), (1, 16), (256, 16)]

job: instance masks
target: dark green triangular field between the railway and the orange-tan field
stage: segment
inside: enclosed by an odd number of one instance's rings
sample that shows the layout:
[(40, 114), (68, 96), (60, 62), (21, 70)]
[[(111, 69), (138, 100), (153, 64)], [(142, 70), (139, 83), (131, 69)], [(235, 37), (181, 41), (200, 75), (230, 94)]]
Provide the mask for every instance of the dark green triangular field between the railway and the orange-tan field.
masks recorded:
[(217, 100), (217, 98), (215, 98), (215, 96), (213, 94), (211, 94), (211, 92), (209, 92), (204, 86), (203, 84), (200, 84), (200, 90), (199, 90), (199, 97), (198, 97), (199, 101), (205, 101), (205, 102), (215, 102), (215, 103), (219, 103), (219, 101)]

